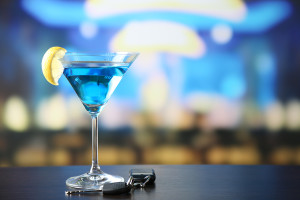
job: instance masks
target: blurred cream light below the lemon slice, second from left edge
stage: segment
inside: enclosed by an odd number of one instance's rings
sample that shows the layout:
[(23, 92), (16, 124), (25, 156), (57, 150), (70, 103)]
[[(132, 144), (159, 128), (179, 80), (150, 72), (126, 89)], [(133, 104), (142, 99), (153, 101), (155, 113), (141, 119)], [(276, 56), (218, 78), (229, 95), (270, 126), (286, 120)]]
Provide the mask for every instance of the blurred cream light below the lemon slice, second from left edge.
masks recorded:
[(61, 130), (68, 123), (67, 105), (61, 94), (42, 101), (37, 110), (36, 123), (49, 130)]

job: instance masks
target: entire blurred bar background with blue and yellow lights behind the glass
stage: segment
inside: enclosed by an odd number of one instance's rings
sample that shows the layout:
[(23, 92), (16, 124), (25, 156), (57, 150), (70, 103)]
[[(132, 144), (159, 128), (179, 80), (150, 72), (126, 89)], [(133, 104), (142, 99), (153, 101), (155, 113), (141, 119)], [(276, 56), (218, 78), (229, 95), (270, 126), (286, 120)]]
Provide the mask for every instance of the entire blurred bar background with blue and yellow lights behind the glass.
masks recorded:
[(91, 120), (52, 46), (137, 51), (100, 115), (100, 164), (300, 164), (294, 0), (2, 0), (0, 166), (89, 165)]

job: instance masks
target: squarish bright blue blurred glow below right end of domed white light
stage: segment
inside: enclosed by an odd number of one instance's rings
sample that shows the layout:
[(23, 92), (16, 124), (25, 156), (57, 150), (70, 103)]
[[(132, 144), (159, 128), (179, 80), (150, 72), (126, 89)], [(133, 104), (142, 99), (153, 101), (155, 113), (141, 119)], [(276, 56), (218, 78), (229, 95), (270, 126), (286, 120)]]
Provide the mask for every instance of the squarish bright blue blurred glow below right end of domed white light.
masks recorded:
[(184, 95), (192, 92), (221, 94), (239, 99), (246, 92), (244, 66), (236, 54), (211, 53), (200, 60), (184, 59)]

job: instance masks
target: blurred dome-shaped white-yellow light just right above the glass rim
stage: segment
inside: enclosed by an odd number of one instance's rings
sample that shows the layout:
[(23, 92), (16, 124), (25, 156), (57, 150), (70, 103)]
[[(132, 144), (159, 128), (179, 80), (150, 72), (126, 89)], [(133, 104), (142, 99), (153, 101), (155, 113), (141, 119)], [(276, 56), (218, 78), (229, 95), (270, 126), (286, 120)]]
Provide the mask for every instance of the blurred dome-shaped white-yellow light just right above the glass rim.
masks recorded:
[(187, 57), (201, 57), (205, 44), (187, 26), (168, 21), (131, 22), (110, 42), (112, 51), (141, 53), (168, 52)]

